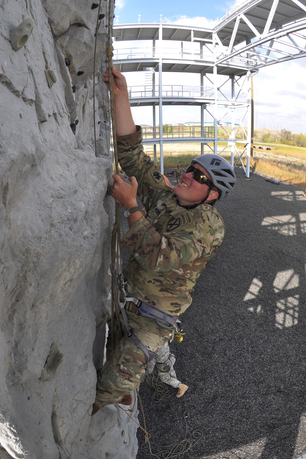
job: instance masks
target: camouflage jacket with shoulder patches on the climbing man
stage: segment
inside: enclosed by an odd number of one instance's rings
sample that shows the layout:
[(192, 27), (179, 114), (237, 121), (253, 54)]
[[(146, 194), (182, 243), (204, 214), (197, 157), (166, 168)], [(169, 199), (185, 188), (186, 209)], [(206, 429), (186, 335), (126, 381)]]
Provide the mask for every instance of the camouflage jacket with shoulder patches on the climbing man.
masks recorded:
[(224, 236), (221, 216), (208, 204), (192, 210), (178, 205), (172, 185), (145, 155), (141, 128), (117, 137), (118, 159), (138, 182), (146, 216), (122, 239), (131, 253), (125, 276), (128, 294), (172, 315), (190, 305), (195, 281)]

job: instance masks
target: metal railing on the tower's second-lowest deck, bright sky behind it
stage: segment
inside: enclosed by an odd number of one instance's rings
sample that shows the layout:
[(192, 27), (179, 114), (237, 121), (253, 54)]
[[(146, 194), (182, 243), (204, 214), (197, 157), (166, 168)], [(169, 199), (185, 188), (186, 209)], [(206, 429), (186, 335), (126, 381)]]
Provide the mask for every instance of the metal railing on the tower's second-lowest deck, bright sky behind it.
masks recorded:
[[(183, 86), (183, 85), (162, 85), (162, 97), (195, 97), (211, 99), (214, 97), (213, 88), (206, 86)], [(152, 86), (128, 86), (128, 96), (130, 99), (136, 97), (158, 97), (159, 85)]]

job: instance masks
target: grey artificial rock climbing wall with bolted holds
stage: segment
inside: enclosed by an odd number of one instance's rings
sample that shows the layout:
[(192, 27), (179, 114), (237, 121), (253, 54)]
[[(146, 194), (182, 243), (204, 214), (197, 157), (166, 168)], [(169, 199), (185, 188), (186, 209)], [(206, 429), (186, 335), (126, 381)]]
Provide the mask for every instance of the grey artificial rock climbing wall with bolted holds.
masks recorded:
[(114, 213), (101, 79), (108, 5), (94, 88), (95, 4), (0, 0), (0, 457), (137, 451), (135, 424), (118, 407), (90, 417)]

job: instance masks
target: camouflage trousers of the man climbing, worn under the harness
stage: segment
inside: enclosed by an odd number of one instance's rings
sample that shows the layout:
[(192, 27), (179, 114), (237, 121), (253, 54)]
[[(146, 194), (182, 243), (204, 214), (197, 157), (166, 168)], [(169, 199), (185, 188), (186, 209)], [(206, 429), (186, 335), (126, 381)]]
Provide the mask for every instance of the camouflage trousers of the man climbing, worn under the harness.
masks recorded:
[[(151, 352), (157, 353), (172, 336), (170, 330), (157, 325), (155, 319), (126, 311), (132, 332)], [(120, 402), (139, 385), (145, 376), (145, 354), (134, 341), (124, 335), (124, 322), (120, 314), (120, 322), (114, 325), (114, 349), (112, 347), (111, 330), (106, 343), (106, 362), (98, 371), (95, 404), (106, 406)]]

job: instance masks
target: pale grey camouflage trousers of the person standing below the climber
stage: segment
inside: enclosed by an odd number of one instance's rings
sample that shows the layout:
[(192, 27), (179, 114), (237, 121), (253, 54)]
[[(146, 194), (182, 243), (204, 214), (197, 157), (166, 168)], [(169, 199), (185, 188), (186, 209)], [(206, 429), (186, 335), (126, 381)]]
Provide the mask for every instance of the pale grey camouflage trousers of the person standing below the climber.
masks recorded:
[(176, 373), (173, 368), (174, 363), (175, 357), (172, 353), (170, 353), (167, 341), (167, 343), (160, 348), (156, 356), (147, 366), (147, 372), (152, 373), (156, 365), (159, 379), (162, 382), (169, 384), (169, 386), (178, 387), (181, 384), (181, 381), (178, 381), (176, 377)]

